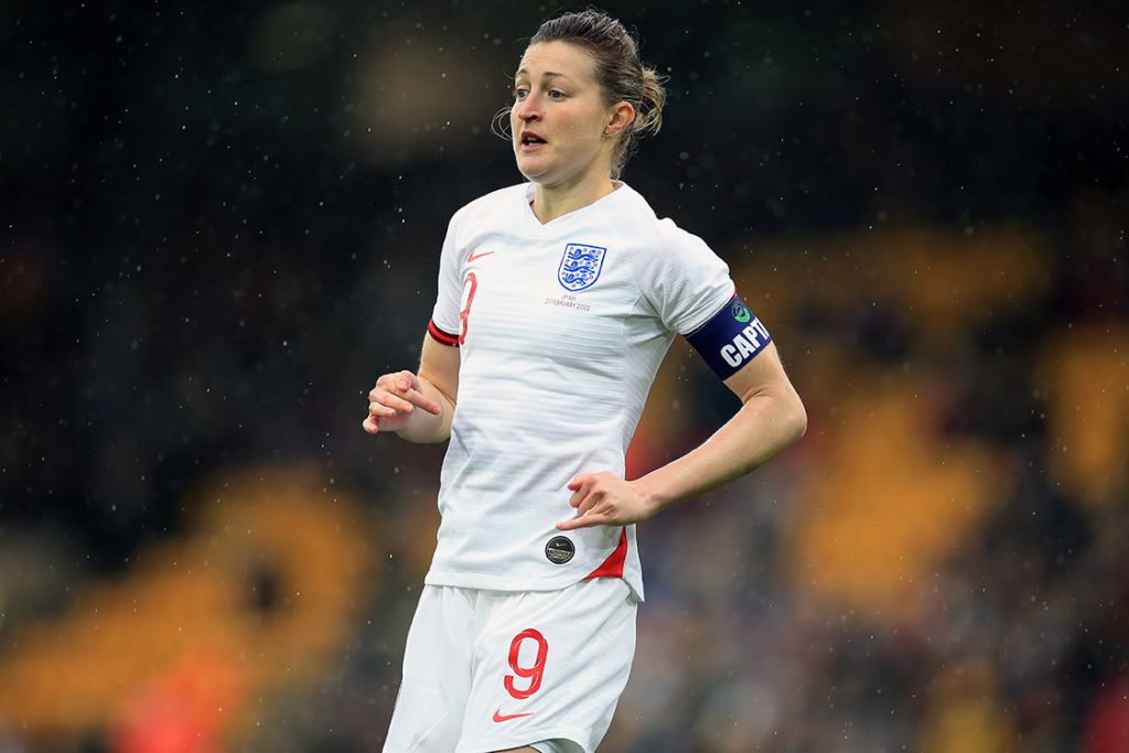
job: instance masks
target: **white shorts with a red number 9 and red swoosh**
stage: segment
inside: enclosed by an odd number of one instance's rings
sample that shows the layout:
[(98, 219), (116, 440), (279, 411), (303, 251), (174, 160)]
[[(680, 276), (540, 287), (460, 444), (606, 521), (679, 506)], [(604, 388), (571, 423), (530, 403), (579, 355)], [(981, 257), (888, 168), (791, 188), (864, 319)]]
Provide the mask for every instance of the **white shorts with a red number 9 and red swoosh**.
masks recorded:
[(593, 753), (628, 683), (637, 605), (619, 578), (425, 586), (384, 753)]

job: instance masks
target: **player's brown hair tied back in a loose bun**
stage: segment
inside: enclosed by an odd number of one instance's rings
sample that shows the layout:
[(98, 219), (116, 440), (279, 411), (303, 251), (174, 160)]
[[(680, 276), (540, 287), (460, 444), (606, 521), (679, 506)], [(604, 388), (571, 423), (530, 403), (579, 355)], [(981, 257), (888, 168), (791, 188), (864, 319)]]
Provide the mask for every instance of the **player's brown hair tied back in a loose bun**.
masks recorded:
[(639, 43), (623, 24), (595, 8), (546, 20), (530, 40), (530, 46), (544, 42), (581, 47), (596, 62), (596, 80), (607, 105), (628, 102), (634, 107), (634, 122), (622, 132), (612, 152), (612, 177), (619, 178), (639, 137), (658, 133), (663, 126), (666, 90), (662, 78), (639, 62)]

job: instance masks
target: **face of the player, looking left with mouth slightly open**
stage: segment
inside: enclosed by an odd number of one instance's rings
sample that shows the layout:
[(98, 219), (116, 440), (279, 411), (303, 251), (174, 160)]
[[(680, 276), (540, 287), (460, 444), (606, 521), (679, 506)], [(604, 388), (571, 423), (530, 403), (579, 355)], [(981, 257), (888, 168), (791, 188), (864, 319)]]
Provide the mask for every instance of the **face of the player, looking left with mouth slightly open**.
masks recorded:
[(530, 46), (514, 79), (517, 169), (534, 183), (560, 185), (611, 173), (614, 138), (605, 135), (612, 108), (604, 104), (596, 63), (567, 42)]

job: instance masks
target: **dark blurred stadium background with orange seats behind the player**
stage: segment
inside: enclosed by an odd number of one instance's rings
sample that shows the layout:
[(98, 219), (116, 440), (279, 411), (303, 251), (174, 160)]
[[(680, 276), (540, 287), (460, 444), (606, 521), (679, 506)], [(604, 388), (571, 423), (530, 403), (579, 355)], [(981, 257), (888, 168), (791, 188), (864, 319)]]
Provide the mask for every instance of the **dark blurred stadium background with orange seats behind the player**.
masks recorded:
[[(811, 426), (640, 527), (602, 750), (1129, 751), (1129, 11), (606, 8)], [(443, 447), (365, 395), (558, 10), (0, 3), (0, 753), (379, 750)], [(736, 408), (677, 342), (631, 473)]]

